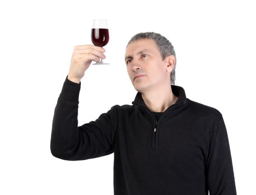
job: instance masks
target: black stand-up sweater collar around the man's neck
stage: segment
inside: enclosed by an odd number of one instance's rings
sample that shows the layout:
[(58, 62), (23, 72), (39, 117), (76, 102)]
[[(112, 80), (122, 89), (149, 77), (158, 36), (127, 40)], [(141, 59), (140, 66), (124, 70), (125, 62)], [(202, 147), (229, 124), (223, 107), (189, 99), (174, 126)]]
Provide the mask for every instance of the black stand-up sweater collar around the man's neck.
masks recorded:
[[(171, 85), (171, 87), (172, 87), (173, 94), (178, 97), (175, 104), (186, 103), (185, 90), (181, 86), (177, 86), (177, 85)], [(137, 95), (136, 95), (134, 101), (132, 102), (132, 104), (141, 104), (141, 105), (146, 106), (146, 104), (144, 103), (144, 100), (142, 98), (141, 92), (137, 92)]]

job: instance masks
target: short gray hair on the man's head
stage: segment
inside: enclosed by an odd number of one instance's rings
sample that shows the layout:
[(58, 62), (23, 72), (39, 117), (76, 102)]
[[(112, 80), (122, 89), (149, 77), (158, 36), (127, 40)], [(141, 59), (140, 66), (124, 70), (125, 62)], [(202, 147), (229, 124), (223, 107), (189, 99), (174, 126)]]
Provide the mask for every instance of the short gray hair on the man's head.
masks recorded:
[(162, 60), (164, 60), (167, 56), (173, 55), (175, 56), (175, 65), (171, 72), (171, 85), (175, 84), (175, 68), (176, 68), (176, 54), (174, 51), (174, 48), (172, 46), (172, 43), (167, 40), (166, 37), (160, 35), (159, 33), (155, 32), (141, 32), (137, 35), (134, 35), (131, 40), (128, 42), (127, 46), (137, 40), (142, 39), (152, 39), (154, 42), (156, 42), (156, 45), (158, 47), (158, 50), (161, 53)]

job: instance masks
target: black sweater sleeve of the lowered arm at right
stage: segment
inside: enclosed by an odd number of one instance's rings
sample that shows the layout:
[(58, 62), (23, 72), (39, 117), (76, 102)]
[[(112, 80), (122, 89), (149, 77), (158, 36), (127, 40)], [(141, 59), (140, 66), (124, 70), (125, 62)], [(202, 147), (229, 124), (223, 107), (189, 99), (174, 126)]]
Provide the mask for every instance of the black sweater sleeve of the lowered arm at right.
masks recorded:
[(222, 117), (214, 129), (205, 172), (210, 195), (236, 194), (229, 139)]

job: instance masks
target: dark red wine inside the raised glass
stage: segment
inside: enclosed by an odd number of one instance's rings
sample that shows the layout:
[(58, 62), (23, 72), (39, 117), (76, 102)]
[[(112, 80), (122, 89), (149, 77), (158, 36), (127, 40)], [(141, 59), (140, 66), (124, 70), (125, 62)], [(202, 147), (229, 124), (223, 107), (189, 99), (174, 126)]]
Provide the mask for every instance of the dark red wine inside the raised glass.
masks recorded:
[(106, 28), (92, 28), (91, 41), (95, 46), (103, 47), (107, 45), (109, 40), (108, 29)]

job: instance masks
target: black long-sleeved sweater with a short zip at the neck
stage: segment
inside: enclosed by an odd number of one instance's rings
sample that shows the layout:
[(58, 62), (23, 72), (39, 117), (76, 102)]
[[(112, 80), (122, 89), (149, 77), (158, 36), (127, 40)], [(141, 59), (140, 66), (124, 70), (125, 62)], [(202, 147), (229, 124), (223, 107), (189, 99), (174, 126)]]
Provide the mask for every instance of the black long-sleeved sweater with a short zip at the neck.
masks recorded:
[(221, 113), (178, 96), (159, 121), (137, 93), (78, 126), (80, 84), (67, 79), (54, 112), (51, 153), (85, 160), (114, 153), (115, 195), (236, 194), (228, 134)]

